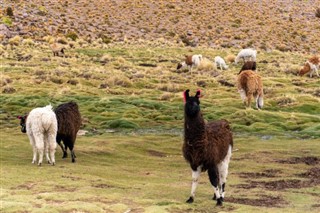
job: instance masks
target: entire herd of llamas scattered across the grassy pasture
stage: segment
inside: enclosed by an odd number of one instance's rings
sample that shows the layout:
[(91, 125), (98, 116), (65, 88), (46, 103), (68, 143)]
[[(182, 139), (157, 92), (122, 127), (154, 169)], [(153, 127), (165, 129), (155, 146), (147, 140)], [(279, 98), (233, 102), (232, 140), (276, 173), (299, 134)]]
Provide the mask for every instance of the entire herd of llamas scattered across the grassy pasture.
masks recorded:
[[(64, 54), (60, 47), (52, 47), (54, 56)], [(252, 97), (256, 108), (263, 107), (262, 77), (257, 73), (257, 51), (244, 49), (235, 58), (235, 63), (243, 60), (243, 66), (237, 75), (237, 89), (246, 107), (250, 108)], [(185, 61), (178, 64), (177, 69), (199, 66), (202, 55), (186, 55)], [(299, 71), (299, 75), (310, 72), (310, 77), (318, 74), (320, 59), (310, 58)], [(228, 65), (220, 56), (214, 58), (217, 68), (228, 69)], [(192, 170), (191, 194), (187, 203), (194, 202), (195, 191), (201, 172), (208, 172), (213, 186), (217, 205), (222, 205), (225, 197), (225, 186), (228, 175), (229, 162), (232, 155), (233, 135), (226, 120), (207, 122), (200, 110), (201, 91), (190, 96), (189, 90), (184, 95), (184, 142), (182, 153)], [(51, 105), (35, 108), (28, 115), (18, 116), (21, 131), (27, 133), (33, 148), (32, 163), (42, 164), (43, 155), (49, 164), (55, 165), (55, 150), (57, 144), (61, 147), (63, 158), (67, 157), (67, 149), (71, 152), (72, 162), (75, 162), (74, 144), (77, 132), (81, 126), (81, 114), (77, 103), (60, 104), (56, 109)], [(61, 143), (63, 141), (63, 144)], [(37, 161), (38, 156), (38, 161)]]

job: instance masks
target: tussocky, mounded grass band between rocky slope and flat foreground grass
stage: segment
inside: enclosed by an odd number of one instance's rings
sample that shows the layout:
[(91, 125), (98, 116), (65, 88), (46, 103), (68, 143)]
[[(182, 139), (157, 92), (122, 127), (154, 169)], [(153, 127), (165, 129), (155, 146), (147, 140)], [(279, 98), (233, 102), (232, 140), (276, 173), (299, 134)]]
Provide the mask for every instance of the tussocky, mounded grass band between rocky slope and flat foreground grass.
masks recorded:
[[(201, 88), (205, 118), (228, 119), (235, 132), (319, 137), (319, 78), (296, 76), (307, 56), (258, 53), (265, 107), (256, 111), (244, 108), (234, 86), (241, 64), (220, 71), (212, 63), (214, 56), (227, 57), (237, 50), (77, 45), (68, 50), (68, 58), (52, 57), (43, 43), (4, 46), (4, 126), (16, 126), (13, 118), (34, 107), (75, 100), (83, 114), (83, 128), (92, 133), (118, 127), (181, 129), (182, 92)], [(176, 63), (186, 53), (203, 54), (204, 65), (191, 74), (177, 72)]]

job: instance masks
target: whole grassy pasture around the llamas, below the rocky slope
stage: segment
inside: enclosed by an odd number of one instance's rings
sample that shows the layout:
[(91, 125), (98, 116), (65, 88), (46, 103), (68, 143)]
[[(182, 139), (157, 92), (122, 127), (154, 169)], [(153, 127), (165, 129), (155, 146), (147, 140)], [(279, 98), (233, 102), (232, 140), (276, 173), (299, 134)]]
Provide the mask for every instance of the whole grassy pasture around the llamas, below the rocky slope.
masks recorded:
[[(258, 51), (265, 106), (245, 109), (235, 87), (241, 65), (209, 62), (176, 71), (186, 53), (236, 49), (75, 43), (66, 58), (46, 43), (8, 45), (1, 70), (2, 212), (319, 212), (320, 79), (296, 73), (309, 56)], [(31, 56), (31, 57), (30, 57)], [(191, 170), (182, 157), (182, 92), (201, 88), (207, 120), (227, 119), (234, 148), (226, 201), (216, 207), (203, 173), (186, 204)], [(74, 100), (83, 117), (77, 162), (31, 164), (18, 115)]]

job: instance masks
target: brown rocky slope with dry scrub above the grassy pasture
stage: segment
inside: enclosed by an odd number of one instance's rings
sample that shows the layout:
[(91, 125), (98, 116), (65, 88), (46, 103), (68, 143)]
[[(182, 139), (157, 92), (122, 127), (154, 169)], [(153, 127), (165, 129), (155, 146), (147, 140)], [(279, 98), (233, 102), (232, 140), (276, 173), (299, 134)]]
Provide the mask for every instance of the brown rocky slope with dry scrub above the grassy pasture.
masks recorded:
[(163, 39), (316, 54), (319, 5), (319, 0), (3, 0), (0, 37), (53, 35), (105, 43)]

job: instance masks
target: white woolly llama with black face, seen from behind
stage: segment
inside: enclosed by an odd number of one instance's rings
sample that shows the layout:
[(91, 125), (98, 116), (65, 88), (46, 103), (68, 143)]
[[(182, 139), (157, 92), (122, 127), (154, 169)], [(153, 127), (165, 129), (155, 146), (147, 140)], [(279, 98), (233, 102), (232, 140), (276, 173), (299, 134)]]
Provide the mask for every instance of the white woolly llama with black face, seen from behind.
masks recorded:
[[(42, 108), (31, 110), (27, 116), (19, 116), (21, 131), (27, 133), (30, 144), (33, 147), (32, 163), (37, 161), (37, 153), (39, 154), (38, 165), (41, 166), (43, 160), (43, 152), (46, 152), (48, 163), (55, 165), (55, 151), (57, 144), (55, 142), (58, 122), (52, 106), (48, 105)], [(49, 153), (50, 152), (50, 157)]]

